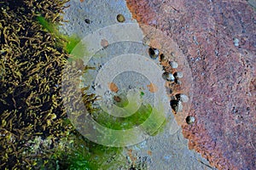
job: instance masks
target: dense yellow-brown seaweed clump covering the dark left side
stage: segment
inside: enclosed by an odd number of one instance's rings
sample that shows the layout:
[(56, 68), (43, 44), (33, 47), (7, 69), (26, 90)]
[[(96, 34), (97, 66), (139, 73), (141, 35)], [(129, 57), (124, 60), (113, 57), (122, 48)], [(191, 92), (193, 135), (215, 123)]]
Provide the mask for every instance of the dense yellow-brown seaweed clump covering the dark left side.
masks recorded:
[(65, 39), (38, 22), (40, 14), (59, 26), (65, 3), (0, 2), (0, 169), (47, 167), (49, 150), (74, 131), (63, 121), (61, 103), (61, 70), (69, 55), (56, 44)]

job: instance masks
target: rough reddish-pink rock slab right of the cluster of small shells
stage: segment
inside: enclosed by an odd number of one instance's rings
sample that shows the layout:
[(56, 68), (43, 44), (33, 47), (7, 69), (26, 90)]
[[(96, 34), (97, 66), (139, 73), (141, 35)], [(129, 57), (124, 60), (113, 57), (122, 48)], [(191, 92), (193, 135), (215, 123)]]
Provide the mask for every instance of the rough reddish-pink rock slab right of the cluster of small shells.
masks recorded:
[[(165, 31), (189, 61), (189, 148), (218, 169), (255, 169), (256, 26), (247, 1), (127, 0), (133, 18)], [(239, 40), (238, 43), (237, 39)]]

